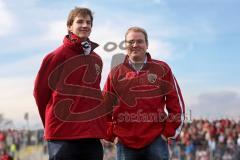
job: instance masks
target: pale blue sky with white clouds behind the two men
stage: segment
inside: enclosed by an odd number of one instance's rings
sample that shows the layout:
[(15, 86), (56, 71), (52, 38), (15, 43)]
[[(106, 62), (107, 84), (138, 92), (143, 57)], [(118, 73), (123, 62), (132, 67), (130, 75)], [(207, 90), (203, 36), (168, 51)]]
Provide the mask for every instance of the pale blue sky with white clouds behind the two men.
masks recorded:
[[(75, 6), (94, 12), (90, 39), (100, 44), (101, 86), (112, 56), (125, 53), (126, 30), (140, 26), (152, 57), (172, 68), (187, 116), (240, 118), (239, 0), (0, 0), (0, 114), (14, 127), (42, 127), (34, 79), (43, 57), (62, 44)], [(109, 42), (117, 44), (110, 52)]]

